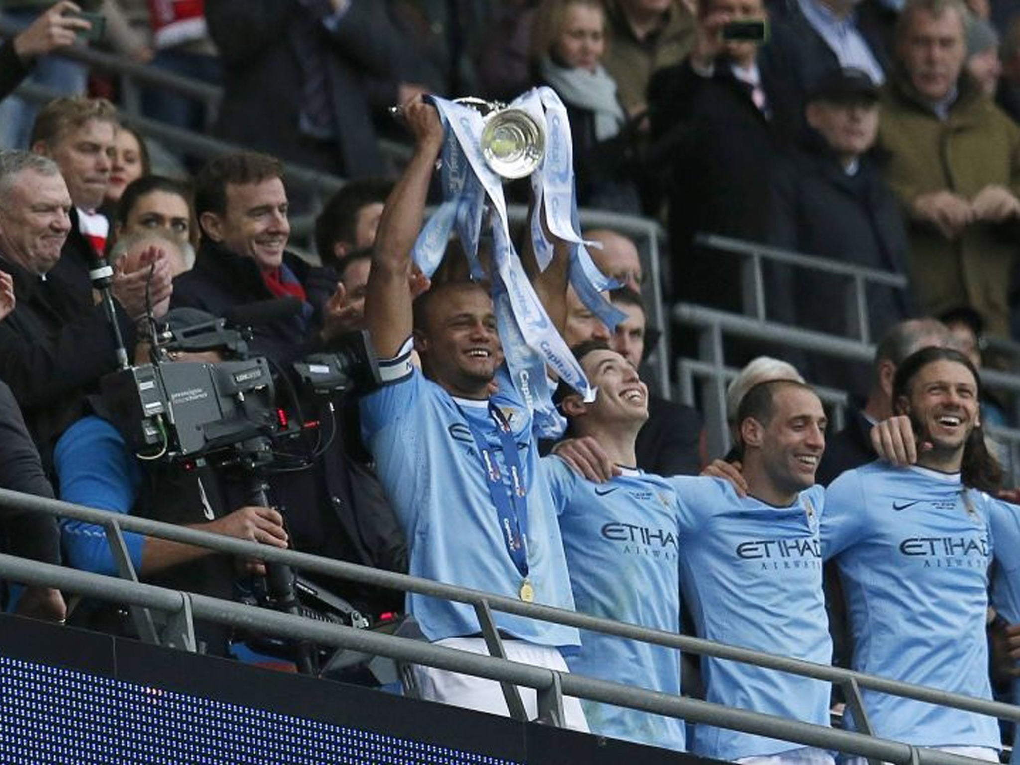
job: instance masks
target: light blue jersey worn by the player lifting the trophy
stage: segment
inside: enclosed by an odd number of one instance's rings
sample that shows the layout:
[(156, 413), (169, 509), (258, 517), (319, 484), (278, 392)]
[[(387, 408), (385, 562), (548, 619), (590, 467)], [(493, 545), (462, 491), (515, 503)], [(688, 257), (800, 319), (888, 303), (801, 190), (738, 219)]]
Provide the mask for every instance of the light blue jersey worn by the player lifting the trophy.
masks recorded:
[[(531, 414), (501, 367), (492, 401), (517, 443), (527, 491), (528, 579), (537, 603), (573, 609), (563, 542), (549, 483), (540, 468)], [(410, 573), (438, 581), (518, 597), (522, 576), (504, 543), (487, 474), (465, 417), (484, 435), (512, 491), (488, 402), (455, 401), (414, 368), (399, 381), (361, 399), (365, 443), (404, 531)], [(474, 610), (465, 604), (409, 594), (414, 614), (430, 641), (475, 634)], [(494, 611), (497, 626), (537, 645), (575, 648), (576, 628)]]

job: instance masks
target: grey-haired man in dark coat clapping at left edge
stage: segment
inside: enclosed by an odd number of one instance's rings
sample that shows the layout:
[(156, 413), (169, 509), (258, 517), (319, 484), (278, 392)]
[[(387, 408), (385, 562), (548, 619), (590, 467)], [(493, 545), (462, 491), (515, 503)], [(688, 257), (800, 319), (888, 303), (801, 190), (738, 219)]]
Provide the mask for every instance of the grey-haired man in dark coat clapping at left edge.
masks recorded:
[[(0, 153), (0, 270), (14, 282), (17, 306), (0, 322), (0, 378), (10, 386), (48, 465), (52, 445), (84, 411), (84, 395), (115, 364), (101, 305), (83, 306), (52, 273), (70, 231), (67, 186), (57, 165), (29, 152)], [(115, 320), (129, 348), (135, 320), (171, 290), (165, 254), (154, 249), (112, 277)], [(158, 311), (157, 311), (158, 315)]]

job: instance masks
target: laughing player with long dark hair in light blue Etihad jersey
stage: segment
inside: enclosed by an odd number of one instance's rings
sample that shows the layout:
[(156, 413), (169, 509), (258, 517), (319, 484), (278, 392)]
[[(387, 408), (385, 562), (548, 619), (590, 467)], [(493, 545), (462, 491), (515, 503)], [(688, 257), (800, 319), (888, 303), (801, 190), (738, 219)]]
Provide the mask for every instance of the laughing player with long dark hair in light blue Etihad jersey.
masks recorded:
[[(917, 435), (917, 464), (873, 462), (836, 478), (822, 542), (844, 584), (854, 669), (990, 699), (984, 623), (998, 501), (984, 491), (1001, 473), (979, 429), (979, 394), (976, 370), (955, 350), (905, 359), (892, 398)], [(863, 698), (876, 735), (998, 760), (991, 717), (871, 691)]]

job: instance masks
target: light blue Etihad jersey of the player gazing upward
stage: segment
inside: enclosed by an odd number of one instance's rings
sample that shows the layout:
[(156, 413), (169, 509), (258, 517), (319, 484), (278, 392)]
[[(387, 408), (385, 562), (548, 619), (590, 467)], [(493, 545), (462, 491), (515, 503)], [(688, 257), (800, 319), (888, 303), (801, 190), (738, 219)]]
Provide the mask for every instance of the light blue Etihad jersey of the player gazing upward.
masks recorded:
[[(547, 457), (553, 501), (577, 610), (671, 632), (679, 630), (679, 508), (658, 475), (626, 470), (606, 483)], [(678, 696), (680, 654), (663, 646), (581, 630), (571, 672)], [(594, 733), (682, 751), (684, 723), (581, 700)]]

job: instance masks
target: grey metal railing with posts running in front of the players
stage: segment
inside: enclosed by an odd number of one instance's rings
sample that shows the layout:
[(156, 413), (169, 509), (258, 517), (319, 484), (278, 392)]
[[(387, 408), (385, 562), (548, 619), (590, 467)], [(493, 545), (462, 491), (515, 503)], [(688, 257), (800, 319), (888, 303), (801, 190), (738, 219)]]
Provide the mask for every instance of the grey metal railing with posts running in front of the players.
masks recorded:
[[(170, 616), (167, 627), (164, 627), (161, 633), (149, 633), (148, 641), (153, 643), (162, 641), (167, 645), (186, 650), (195, 650), (193, 620), (197, 618), (292, 641), (307, 641), (323, 646), (345, 648), (401, 662), (425, 664), (493, 679), (502, 683), (508, 699), (508, 707), (511, 714), (517, 719), (523, 719), (523, 708), (519, 704), (519, 696), (517, 696), (515, 685), (522, 685), (538, 692), (540, 715), (553, 724), (562, 724), (563, 722), (562, 696), (565, 694), (580, 699), (679, 717), (692, 722), (783, 738), (796, 744), (858, 754), (874, 760), (904, 763), (904, 765), (907, 763), (964, 765), (974, 762), (969, 758), (945, 752), (877, 738), (867, 732), (837, 730), (773, 715), (728, 708), (616, 682), (510, 662), (505, 659), (501, 638), (492, 619), (492, 611), (498, 610), (838, 683), (847, 695), (848, 703), (854, 710), (856, 719), (861, 721), (862, 728), (866, 731), (870, 731), (871, 728), (863, 713), (861, 688), (894, 694), (1020, 722), (1020, 708), (1006, 704), (948, 694), (935, 688), (911, 685), (783, 656), (724, 646), (688, 635), (610, 621), (574, 611), (528, 604), (517, 599), (457, 588), (430, 579), (366, 568), (291, 550), (279, 550), (193, 528), (22, 495), (9, 490), (0, 490), (0, 507), (30, 510), (101, 525), (106, 530), (107, 540), (110, 542), (124, 578), (78, 571), (9, 555), (0, 555), (0, 576), (27, 584), (57, 586), (66, 592), (101, 600), (126, 602), (133, 604), (136, 613), (147, 613), (150, 609), (165, 612)], [(137, 576), (134, 574), (130, 558), (123, 547), (122, 531), (124, 530), (205, 547), (220, 553), (259, 558), (290, 565), (296, 569), (342, 577), (363, 584), (404, 590), (469, 604), (478, 616), (487, 644), (494, 656), (467, 654), (406, 638), (377, 634), (200, 594), (140, 583), (137, 581)], [(146, 634), (143, 634), (143, 639), (146, 639)], [(515, 698), (516, 703), (514, 703)]]

